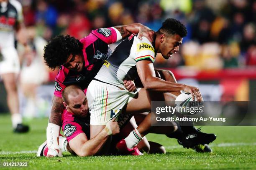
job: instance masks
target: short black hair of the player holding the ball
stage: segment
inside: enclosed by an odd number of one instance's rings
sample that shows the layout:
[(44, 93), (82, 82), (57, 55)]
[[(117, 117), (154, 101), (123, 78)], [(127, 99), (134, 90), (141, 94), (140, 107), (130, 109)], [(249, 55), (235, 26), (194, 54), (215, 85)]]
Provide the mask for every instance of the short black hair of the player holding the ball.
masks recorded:
[(174, 18), (166, 19), (157, 32), (163, 32), (169, 35), (178, 34), (181, 37), (187, 36), (187, 28), (185, 25)]

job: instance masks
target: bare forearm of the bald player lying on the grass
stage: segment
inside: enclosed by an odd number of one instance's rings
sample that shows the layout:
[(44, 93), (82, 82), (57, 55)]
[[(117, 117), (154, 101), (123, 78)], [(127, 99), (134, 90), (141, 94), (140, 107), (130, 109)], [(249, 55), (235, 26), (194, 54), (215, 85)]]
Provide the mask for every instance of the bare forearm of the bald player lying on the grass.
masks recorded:
[(94, 138), (87, 140), (82, 146), (79, 156), (92, 156), (98, 153), (102, 145), (108, 140), (108, 133), (103, 129), (98, 135)]

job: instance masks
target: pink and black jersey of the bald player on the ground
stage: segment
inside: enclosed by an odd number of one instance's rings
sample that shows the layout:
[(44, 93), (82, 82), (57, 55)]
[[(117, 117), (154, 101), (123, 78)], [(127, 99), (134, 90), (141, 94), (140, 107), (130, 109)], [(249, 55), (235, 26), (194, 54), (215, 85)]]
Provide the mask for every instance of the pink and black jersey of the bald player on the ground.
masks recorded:
[(88, 139), (90, 139), (90, 116), (88, 117), (76, 117), (67, 110), (62, 114), (62, 131), (69, 142), (80, 133), (85, 133)]

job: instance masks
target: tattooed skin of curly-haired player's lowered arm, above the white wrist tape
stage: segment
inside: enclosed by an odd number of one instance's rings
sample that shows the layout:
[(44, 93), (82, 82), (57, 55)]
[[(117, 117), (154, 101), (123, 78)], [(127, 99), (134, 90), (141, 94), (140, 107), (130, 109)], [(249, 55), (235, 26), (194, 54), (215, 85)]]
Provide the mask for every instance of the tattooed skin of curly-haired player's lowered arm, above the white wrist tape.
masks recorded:
[(61, 115), (64, 110), (63, 100), (60, 97), (54, 96), (51, 106), (51, 115), (49, 117), (49, 123), (61, 126)]

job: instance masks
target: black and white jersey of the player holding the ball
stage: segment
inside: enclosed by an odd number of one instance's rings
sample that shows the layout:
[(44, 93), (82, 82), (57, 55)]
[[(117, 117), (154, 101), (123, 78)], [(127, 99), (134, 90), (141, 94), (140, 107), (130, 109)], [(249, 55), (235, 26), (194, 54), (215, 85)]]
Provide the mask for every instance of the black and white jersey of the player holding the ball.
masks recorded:
[(154, 62), (155, 57), (156, 53), (151, 42), (146, 37), (140, 40), (133, 34), (115, 48), (95, 79), (124, 88), (124, 80), (134, 80), (138, 77), (136, 62), (141, 60)]

